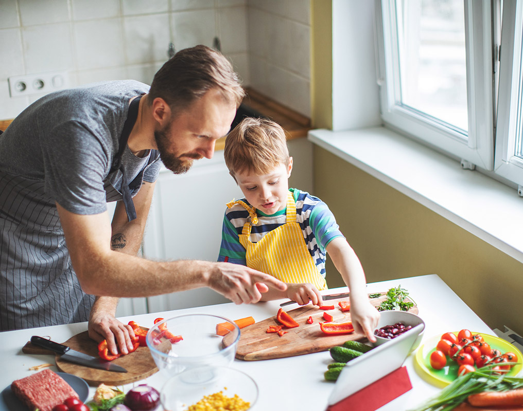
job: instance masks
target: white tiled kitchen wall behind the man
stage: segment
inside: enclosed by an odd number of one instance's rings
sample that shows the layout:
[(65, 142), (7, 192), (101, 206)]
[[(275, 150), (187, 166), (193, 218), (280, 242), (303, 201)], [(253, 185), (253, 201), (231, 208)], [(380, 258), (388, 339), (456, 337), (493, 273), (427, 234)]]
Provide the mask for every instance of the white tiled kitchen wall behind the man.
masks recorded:
[(0, 0), (0, 119), (40, 96), (9, 96), (7, 78), (67, 71), (70, 85), (150, 84), (176, 50), (212, 46), (265, 95), (310, 115), (310, 0)]

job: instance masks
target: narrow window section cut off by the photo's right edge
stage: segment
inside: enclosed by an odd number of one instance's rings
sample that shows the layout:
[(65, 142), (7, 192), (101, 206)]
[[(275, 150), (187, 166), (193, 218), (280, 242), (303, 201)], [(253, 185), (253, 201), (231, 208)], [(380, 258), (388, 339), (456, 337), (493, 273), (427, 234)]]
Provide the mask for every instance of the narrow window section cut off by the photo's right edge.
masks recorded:
[[(505, 2), (495, 170), (497, 174), (523, 186), (523, 4)], [(521, 187), (520, 187), (521, 191)]]

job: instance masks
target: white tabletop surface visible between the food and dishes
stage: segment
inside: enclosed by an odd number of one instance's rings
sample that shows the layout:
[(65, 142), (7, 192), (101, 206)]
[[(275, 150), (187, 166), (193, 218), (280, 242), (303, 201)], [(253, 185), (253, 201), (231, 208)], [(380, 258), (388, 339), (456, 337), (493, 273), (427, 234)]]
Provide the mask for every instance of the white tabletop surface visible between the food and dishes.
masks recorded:
[[(416, 302), (419, 316), (426, 324), (422, 344), (434, 335), (447, 331), (459, 331), (462, 328), (494, 335), (489, 328), (436, 274), (402, 278), (399, 280), (380, 281), (367, 286), (369, 293), (386, 291), (391, 287), (401, 285), (410, 292), (410, 297)], [(328, 290), (325, 293), (343, 292), (345, 287)], [(285, 300), (244, 304), (218, 304), (214, 306), (197, 307), (183, 310), (164, 311), (121, 318), (123, 323), (130, 320), (140, 324), (152, 324), (157, 317), (169, 318), (186, 313), (208, 313), (238, 319), (253, 316), (256, 321), (265, 320), (276, 315), (279, 304)], [(287, 306), (287, 310), (297, 308), (297, 305)], [(55, 325), (29, 330), (6, 331), (0, 333), (1, 349), (0, 391), (19, 378), (26, 377), (35, 371), (29, 367), (44, 362), (54, 363), (54, 356), (26, 355), (21, 348), (32, 335), (50, 336), (56, 342), (63, 342), (71, 336), (87, 330), (87, 323)], [(283, 338), (282, 338), (283, 343)], [(380, 410), (402, 411), (414, 408), (429, 396), (438, 393), (439, 389), (425, 382), (414, 369), (414, 355), (407, 357), (404, 365), (407, 367), (413, 389), (381, 407)], [(327, 364), (332, 362), (328, 351), (263, 361), (234, 360), (232, 367), (251, 375), (259, 387), (259, 398), (254, 409), (256, 411), (300, 410), (323, 411), (327, 399), (333, 390), (334, 383), (323, 379)], [(57, 371), (56, 367), (51, 367)], [(137, 382), (150, 384), (160, 391), (165, 378), (161, 373)], [(124, 386), (127, 392), (133, 384)], [(89, 400), (95, 392), (90, 387)], [(357, 411), (357, 410), (356, 410)]]

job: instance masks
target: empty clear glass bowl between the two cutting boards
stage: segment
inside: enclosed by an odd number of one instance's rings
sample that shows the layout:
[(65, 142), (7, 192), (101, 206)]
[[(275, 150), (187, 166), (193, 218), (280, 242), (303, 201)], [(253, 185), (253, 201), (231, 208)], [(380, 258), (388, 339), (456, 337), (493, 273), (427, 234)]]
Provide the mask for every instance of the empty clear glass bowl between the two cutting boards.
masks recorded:
[(230, 365), (239, 340), (234, 321), (211, 314), (165, 319), (145, 337), (158, 370), (167, 378), (192, 367)]

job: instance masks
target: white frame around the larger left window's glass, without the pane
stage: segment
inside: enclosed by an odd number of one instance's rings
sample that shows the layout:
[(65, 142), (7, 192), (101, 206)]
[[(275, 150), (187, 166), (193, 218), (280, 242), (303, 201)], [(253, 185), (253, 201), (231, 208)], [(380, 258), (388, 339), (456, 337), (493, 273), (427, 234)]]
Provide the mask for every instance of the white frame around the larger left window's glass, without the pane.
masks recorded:
[(383, 122), (390, 128), (489, 171), (494, 169), (495, 109), (491, 7), (488, 0), (464, 0), (468, 137), (457, 127), (398, 104), (400, 71), (395, 0), (376, 0), (375, 7)]

